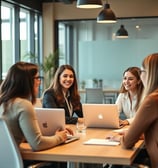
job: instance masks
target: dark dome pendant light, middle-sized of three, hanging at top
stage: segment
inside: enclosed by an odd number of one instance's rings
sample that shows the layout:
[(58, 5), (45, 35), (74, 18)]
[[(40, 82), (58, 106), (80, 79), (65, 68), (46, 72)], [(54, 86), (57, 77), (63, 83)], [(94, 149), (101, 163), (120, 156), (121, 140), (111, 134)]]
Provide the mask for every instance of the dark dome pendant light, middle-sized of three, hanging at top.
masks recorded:
[(116, 23), (117, 19), (114, 12), (110, 8), (110, 4), (106, 1), (104, 9), (97, 17), (97, 23)]

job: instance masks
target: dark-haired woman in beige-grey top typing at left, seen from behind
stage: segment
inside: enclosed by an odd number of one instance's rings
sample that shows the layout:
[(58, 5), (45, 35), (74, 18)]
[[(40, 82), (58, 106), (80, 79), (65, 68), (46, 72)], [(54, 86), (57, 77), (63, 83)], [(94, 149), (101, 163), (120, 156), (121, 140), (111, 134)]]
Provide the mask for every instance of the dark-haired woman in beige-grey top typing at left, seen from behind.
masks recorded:
[(39, 85), (38, 66), (18, 62), (9, 69), (0, 88), (0, 114), (6, 118), (17, 144), (26, 139), (34, 151), (57, 146), (67, 139), (67, 132), (72, 134), (67, 129), (53, 136), (41, 134), (33, 107)]

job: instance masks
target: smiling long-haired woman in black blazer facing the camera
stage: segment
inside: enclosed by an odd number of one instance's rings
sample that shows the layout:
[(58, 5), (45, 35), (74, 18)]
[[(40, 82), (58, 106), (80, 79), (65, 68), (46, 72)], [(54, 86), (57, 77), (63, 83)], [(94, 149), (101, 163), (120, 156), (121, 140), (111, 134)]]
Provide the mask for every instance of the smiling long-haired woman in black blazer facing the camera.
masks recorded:
[(44, 108), (64, 108), (66, 124), (83, 122), (82, 105), (75, 71), (70, 65), (61, 65), (50, 87), (43, 94)]

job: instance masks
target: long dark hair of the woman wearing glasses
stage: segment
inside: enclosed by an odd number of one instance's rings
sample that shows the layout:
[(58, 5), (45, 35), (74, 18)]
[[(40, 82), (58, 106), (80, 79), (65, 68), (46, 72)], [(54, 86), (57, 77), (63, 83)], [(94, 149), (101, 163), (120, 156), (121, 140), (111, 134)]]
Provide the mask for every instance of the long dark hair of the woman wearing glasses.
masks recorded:
[(30, 99), (34, 104), (34, 77), (38, 73), (38, 66), (33, 63), (17, 62), (8, 71), (0, 88), (0, 105), (7, 104), (16, 97)]

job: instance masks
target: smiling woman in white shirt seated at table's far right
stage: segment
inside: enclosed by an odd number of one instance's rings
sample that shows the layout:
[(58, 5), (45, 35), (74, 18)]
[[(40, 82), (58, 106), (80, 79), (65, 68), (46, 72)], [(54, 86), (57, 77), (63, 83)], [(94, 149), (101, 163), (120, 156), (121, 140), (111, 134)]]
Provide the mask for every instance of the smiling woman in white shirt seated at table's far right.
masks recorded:
[(116, 100), (119, 113), (123, 113), (125, 117), (125, 119), (121, 118), (120, 124), (128, 125), (133, 121), (139, 106), (143, 88), (143, 83), (140, 79), (140, 68), (129, 67), (126, 69), (123, 73), (120, 94)]

